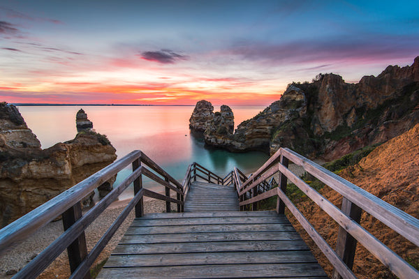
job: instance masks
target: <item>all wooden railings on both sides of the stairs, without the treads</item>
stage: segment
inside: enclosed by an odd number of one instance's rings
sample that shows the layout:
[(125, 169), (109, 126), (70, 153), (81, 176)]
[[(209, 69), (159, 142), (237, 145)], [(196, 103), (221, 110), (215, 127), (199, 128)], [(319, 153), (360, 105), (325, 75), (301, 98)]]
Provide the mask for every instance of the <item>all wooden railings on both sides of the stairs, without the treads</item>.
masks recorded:
[[(288, 169), (289, 163), (300, 165), (306, 172), (313, 175), (330, 188), (343, 196), (341, 209), (325, 199), (316, 190), (302, 181)], [(82, 215), (80, 200), (89, 195), (95, 188), (112, 176), (115, 176), (125, 167), (132, 165), (133, 172), (118, 186), (101, 199), (92, 209)], [(164, 195), (143, 187), (142, 176), (156, 181), (165, 188)], [(279, 177), (279, 181), (275, 179)], [(285, 208), (295, 216), (296, 220), (307, 231), (318, 248), (324, 253), (330, 263), (335, 267), (332, 278), (355, 278), (351, 271), (357, 242), (367, 248), (372, 255), (379, 259), (396, 276), (402, 279), (419, 278), (419, 272), (413, 269), (390, 248), (378, 241), (360, 224), (360, 215), (363, 211), (381, 220), (382, 223), (394, 229), (406, 239), (419, 246), (419, 220), (409, 216), (384, 202), (378, 197), (367, 193), (352, 183), (329, 172), (327, 169), (311, 162), (307, 158), (291, 151), (279, 149), (256, 172), (247, 177), (240, 169), (235, 167), (226, 176), (221, 178), (198, 163), (192, 163), (186, 170), (182, 183), (173, 179), (159, 165), (154, 163), (141, 151), (133, 151), (124, 158), (117, 160), (108, 167), (76, 184), (72, 188), (54, 197), (49, 202), (39, 206), (34, 211), (23, 216), (14, 223), (0, 230), (0, 253), (18, 241), (27, 238), (37, 229), (50, 223), (57, 216), (63, 216), (64, 233), (53, 241), (27, 266), (19, 271), (13, 278), (36, 278), (61, 252), (67, 249), (71, 266), (71, 278), (89, 278), (89, 269), (94, 260), (105, 248), (108, 241), (124, 222), (128, 213), (135, 209), (135, 216), (144, 214), (143, 197), (152, 197), (166, 202), (166, 211), (171, 211), (171, 203), (177, 204), (177, 211), (184, 210), (184, 202), (191, 183), (203, 179), (219, 185), (233, 184), (240, 200), (240, 210), (257, 209), (257, 203), (269, 197), (277, 197), (277, 212), (284, 214)], [(325, 213), (339, 224), (337, 246), (334, 250), (302, 215), (297, 207), (286, 195), (288, 181), (300, 188), (307, 197), (316, 203)], [(88, 252), (84, 236), (85, 229), (114, 202), (117, 197), (133, 183), (134, 197), (108, 228), (96, 246)], [(175, 193), (172, 197), (171, 193)]]

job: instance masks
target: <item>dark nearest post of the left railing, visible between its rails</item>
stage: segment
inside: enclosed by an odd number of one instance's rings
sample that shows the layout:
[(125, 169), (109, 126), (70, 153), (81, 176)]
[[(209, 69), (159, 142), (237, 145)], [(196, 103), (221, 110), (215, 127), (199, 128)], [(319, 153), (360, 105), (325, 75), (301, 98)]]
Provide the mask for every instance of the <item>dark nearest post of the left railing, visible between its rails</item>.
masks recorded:
[[(80, 202), (67, 209), (67, 211), (62, 214), (62, 217), (64, 230), (66, 231), (78, 219), (82, 218), (82, 206), (80, 206)], [(78, 268), (79, 264), (87, 257), (86, 236), (84, 235), (84, 232), (67, 247), (67, 252), (71, 273), (73, 273), (75, 269)], [(83, 278), (90, 279), (90, 273), (88, 272)]]

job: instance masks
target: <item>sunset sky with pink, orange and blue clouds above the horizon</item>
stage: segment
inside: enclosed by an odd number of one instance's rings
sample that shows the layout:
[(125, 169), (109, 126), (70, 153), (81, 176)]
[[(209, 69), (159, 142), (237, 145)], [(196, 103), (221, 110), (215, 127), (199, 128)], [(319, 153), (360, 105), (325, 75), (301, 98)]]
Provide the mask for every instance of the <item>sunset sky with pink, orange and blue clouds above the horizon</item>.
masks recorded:
[(419, 55), (419, 1), (0, 1), (0, 101), (269, 105)]

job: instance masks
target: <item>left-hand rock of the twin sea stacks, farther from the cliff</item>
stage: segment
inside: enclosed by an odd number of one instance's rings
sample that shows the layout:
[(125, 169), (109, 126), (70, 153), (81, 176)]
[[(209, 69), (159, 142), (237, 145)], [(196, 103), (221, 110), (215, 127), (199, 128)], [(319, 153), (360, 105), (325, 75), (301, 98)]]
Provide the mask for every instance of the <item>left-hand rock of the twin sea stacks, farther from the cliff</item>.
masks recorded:
[(200, 100), (193, 109), (189, 119), (189, 128), (196, 132), (204, 132), (214, 119), (214, 107), (206, 100)]

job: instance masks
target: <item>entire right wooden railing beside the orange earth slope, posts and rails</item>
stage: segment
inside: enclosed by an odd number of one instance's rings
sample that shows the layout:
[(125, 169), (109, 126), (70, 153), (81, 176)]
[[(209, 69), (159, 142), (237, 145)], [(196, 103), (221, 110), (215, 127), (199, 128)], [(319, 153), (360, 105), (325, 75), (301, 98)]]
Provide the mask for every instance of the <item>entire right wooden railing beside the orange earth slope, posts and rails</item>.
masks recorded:
[[(288, 160), (304, 168), (337, 193), (343, 196), (341, 209), (337, 208), (328, 199), (325, 199), (316, 190), (311, 188), (300, 177), (288, 169)], [(367, 211), (382, 223), (394, 229), (395, 232), (419, 246), (419, 220), (397, 209), (382, 199), (362, 190), (353, 183), (311, 162), (290, 149), (279, 149), (267, 162), (260, 167), (246, 181), (234, 170), (234, 183), (240, 197), (240, 209), (251, 205), (256, 209), (256, 203), (269, 197), (277, 196), (277, 212), (284, 214), (287, 207), (297, 221), (314, 240), (318, 248), (324, 253), (330, 263), (335, 267), (333, 278), (356, 278), (351, 271), (357, 241), (369, 252), (379, 259), (396, 276), (402, 279), (419, 278), (418, 270), (404, 261), (395, 252), (390, 250), (381, 241), (367, 232), (360, 224), (362, 210)], [(267, 179), (279, 176), (277, 188), (260, 188)], [(286, 196), (287, 180), (295, 184), (307, 197), (320, 206), (325, 213), (339, 224), (336, 249), (332, 249), (309, 221), (302, 215), (297, 207)], [(260, 190), (263, 190), (261, 193)]]

